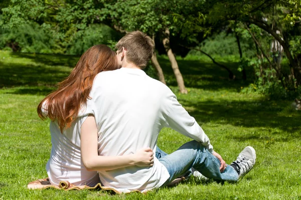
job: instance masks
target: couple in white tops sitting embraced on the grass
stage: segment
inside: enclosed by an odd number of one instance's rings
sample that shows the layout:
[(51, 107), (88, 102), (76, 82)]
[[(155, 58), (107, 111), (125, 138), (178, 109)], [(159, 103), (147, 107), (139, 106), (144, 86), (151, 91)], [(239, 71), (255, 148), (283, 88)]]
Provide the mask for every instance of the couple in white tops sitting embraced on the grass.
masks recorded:
[[(117, 55), (105, 45), (88, 49), (38, 107), (42, 119), (52, 120), (51, 184), (101, 182), (119, 192), (145, 192), (192, 171), (237, 181), (253, 167), (252, 147), (227, 165), (169, 87), (145, 74), (154, 51), (150, 37), (131, 32), (116, 48)], [(157, 146), (164, 127), (193, 140), (168, 155)]]

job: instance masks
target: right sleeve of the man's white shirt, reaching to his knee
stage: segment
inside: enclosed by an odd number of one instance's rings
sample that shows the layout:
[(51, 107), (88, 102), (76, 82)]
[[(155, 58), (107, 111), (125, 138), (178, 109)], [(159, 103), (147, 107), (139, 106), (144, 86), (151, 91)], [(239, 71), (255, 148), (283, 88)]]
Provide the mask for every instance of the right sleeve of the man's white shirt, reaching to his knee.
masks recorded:
[(208, 136), (196, 120), (182, 107), (175, 95), (170, 98), (170, 112), (166, 118), (167, 127), (202, 143), (209, 152), (214, 153)]

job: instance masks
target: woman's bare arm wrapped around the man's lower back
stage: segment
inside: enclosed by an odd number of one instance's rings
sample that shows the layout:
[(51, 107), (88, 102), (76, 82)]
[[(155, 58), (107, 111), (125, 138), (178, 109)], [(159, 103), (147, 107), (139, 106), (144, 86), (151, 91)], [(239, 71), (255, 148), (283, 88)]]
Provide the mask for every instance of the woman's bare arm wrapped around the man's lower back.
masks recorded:
[(107, 171), (127, 166), (153, 166), (154, 152), (150, 148), (144, 148), (135, 154), (123, 156), (99, 156), (98, 155), (98, 135), (93, 115), (81, 126), (81, 157), (84, 166), (88, 171)]

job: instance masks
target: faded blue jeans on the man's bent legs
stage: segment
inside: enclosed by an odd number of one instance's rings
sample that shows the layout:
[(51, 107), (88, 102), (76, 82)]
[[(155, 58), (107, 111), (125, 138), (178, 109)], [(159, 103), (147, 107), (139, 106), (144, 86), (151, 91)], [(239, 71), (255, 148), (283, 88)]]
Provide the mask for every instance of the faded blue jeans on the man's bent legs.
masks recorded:
[(230, 165), (227, 165), (224, 172), (221, 173), (219, 170), (221, 166), (219, 159), (195, 140), (185, 143), (171, 154), (167, 154), (157, 147), (156, 157), (167, 168), (170, 174), (170, 178), (164, 185), (167, 185), (180, 175), (187, 174), (192, 167), (205, 177), (214, 180), (238, 180), (237, 172)]

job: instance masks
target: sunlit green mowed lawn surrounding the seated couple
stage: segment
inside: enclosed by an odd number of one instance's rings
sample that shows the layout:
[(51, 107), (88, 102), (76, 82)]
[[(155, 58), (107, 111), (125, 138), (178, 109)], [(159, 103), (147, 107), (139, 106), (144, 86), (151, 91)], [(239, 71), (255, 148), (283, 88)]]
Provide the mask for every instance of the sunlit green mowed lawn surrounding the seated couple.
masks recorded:
[[(47, 177), (45, 166), (51, 150), (49, 121), (41, 121), (36, 108), (77, 60), (0, 51), (0, 199), (301, 198), (301, 115), (290, 108), (291, 102), (241, 93), (240, 88), (251, 80), (239, 80), (236, 63), (224, 63), (238, 76), (229, 81), (226, 71), (202, 59), (179, 58), (189, 90), (180, 94), (165, 57), (159, 61), (169, 86), (207, 133), (215, 151), (231, 163), (245, 146), (255, 148), (256, 164), (244, 178), (237, 183), (217, 183), (192, 177), (176, 187), (146, 194), (27, 189), (29, 182)], [(190, 139), (165, 128), (158, 145), (171, 153), (187, 141)]]

